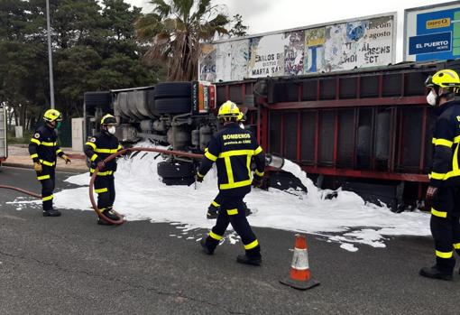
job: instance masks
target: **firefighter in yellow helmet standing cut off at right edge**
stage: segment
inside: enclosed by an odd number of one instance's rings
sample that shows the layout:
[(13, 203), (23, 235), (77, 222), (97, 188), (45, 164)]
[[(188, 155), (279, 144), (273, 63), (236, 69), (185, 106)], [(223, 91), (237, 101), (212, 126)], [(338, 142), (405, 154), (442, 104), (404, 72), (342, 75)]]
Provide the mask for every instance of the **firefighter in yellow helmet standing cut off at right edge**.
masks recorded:
[(460, 102), (455, 100), (460, 78), (454, 70), (443, 69), (428, 77), (425, 85), (430, 89), (427, 102), (435, 107), (437, 115), (426, 196), (426, 206), (431, 211), (436, 264), (422, 268), (420, 275), (452, 280), (454, 251), (460, 255)]

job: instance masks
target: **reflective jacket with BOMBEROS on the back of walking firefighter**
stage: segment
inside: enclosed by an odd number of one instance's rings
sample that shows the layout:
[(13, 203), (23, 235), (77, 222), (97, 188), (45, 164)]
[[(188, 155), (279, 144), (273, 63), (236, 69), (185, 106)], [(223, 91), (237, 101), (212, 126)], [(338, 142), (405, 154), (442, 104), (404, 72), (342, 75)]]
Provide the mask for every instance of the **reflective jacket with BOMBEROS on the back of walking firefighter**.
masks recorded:
[(244, 196), (251, 191), (253, 157), (255, 173), (263, 176), (265, 154), (255, 136), (235, 123), (225, 125), (209, 142), (198, 176), (205, 176), (216, 162), (220, 193)]

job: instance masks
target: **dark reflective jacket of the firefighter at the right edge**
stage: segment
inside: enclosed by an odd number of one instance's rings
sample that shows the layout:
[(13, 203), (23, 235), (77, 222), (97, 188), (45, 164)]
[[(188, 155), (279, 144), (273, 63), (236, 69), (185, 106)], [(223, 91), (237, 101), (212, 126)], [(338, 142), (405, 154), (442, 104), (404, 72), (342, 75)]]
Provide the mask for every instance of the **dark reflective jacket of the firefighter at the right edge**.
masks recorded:
[(438, 116), (433, 129), (433, 162), (429, 173), (429, 185), (460, 185), (460, 102), (447, 102), (437, 107), (436, 111)]

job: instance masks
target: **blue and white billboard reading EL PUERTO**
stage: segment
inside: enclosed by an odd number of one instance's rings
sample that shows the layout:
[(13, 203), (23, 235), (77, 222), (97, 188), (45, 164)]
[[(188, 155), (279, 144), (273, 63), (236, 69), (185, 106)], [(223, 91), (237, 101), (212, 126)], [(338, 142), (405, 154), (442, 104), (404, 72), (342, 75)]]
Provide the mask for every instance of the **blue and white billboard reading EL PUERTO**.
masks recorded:
[(404, 60), (460, 58), (460, 1), (404, 11)]

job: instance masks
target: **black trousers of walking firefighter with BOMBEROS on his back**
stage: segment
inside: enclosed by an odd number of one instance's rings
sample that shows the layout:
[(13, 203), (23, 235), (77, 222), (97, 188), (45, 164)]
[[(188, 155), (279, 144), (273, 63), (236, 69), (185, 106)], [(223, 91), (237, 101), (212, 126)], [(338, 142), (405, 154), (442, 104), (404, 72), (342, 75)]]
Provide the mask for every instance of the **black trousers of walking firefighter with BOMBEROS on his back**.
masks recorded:
[(224, 237), (226, 228), (231, 224), (238, 236), (241, 237), (246, 255), (260, 256), (261, 246), (244, 214), (244, 196), (223, 196), (219, 194), (219, 199), (219, 215), (216, 226), (211, 229), (207, 236), (207, 247), (214, 251), (219, 241)]

